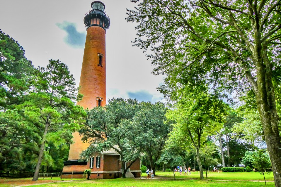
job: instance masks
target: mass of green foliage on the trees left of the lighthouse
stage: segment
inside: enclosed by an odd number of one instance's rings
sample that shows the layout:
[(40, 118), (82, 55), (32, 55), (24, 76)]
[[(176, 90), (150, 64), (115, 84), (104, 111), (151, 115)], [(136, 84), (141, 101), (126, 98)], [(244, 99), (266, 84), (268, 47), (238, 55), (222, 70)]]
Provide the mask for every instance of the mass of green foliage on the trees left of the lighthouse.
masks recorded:
[[(35, 69), (23, 47), (0, 30), (1, 170), (34, 172), (42, 157), (43, 165), (51, 167), (59, 161), (57, 169), (62, 169), (68, 154), (64, 145), (71, 142), (71, 132), (86, 117), (83, 108), (74, 103), (82, 98), (77, 92), (67, 65), (50, 60), (46, 68)], [(58, 158), (50, 149), (64, 154)]]

